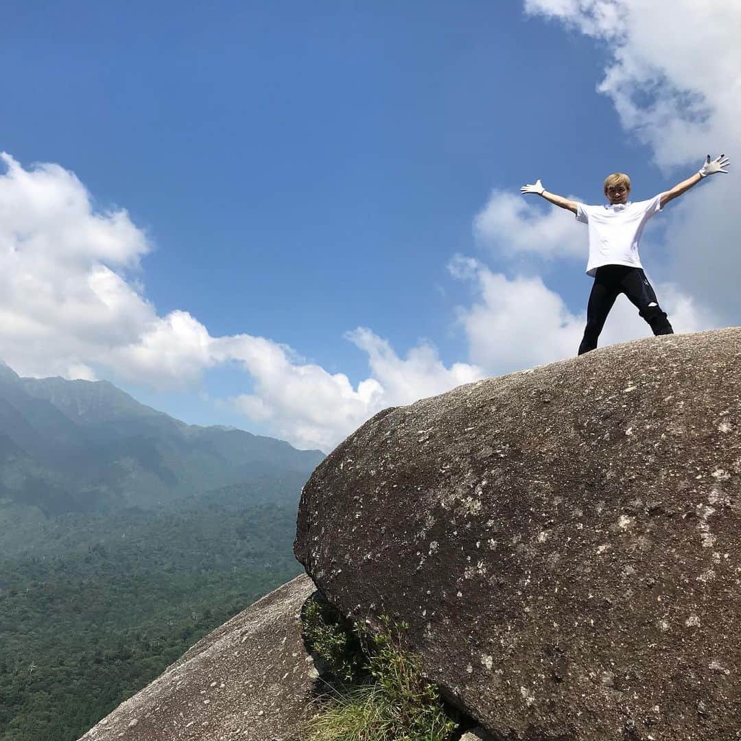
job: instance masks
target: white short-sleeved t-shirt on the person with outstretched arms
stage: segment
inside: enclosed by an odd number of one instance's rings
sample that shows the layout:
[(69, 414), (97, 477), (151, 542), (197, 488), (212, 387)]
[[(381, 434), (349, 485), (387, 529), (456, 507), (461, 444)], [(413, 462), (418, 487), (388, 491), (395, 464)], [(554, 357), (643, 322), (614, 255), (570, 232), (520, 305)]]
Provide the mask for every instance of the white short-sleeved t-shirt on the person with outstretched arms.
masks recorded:
[(603, 206), (576, 204), (576, 221), (589, 228), (587, 275), (601, 265), (631, 265), (642, 268), (638, 243), (643, 227), (661, 210), (661, 193), (648, 201)]

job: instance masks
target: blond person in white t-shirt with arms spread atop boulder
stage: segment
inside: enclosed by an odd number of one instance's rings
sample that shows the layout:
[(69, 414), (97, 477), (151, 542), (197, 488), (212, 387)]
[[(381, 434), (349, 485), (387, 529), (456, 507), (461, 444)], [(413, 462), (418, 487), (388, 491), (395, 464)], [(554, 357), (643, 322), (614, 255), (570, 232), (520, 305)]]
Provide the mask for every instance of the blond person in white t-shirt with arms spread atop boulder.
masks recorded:
[(588, 206), (548, 193), (542, 182), (523, 185), (520, 193), (536, 193), (546, 201), (576, 214), (576, 221), (589, 230), (589, 260), (587, 275), (594, 285), (587, 305), (587, 326), (579, 345), (579, 355), (594, 350), (608, 313), (619, 296), (625, 293), (638, 313), (651, 326), (654, 334), (674, 334), (665, 311), (659, 306), (654, 289), (643, 272), (638, 256), (638, 243), (645, 223), (659, 213), (671, 200), (681, 196), (700, 180), (715, 173), (727, 173), (729, 160), (720, 155), (711, 160), (708, 154), (700, 170), (677, 183), (671, 190), (659, 193), (648, 201), (631, 202), (631, 179), (624, 173), (605, 178), (604, 191), (609, 205)]

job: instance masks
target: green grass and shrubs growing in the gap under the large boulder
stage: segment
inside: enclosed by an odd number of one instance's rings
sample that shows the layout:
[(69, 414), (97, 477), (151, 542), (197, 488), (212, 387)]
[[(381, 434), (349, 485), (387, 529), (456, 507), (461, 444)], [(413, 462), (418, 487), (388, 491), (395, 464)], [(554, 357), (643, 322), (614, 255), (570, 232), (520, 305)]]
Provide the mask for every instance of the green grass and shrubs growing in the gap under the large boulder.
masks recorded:
[(382, 617), (371, 636), (350, 625), (326, 602), (311, 600), (304, 634), (328, 671), (321, 709), (308, 722), (308, 741), (446, 741), (458, 723), (422, 675), (419, 657), (405, 650), (408, 625)]

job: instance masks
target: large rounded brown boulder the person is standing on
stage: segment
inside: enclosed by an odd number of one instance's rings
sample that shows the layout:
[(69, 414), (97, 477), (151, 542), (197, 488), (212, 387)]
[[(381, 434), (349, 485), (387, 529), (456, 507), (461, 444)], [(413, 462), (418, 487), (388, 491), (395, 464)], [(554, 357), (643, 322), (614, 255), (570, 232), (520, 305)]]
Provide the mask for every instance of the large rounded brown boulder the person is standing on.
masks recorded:
[(741, 738), (741, 330), (373, 417), (302, 493), (330, 602), (499, 740)]

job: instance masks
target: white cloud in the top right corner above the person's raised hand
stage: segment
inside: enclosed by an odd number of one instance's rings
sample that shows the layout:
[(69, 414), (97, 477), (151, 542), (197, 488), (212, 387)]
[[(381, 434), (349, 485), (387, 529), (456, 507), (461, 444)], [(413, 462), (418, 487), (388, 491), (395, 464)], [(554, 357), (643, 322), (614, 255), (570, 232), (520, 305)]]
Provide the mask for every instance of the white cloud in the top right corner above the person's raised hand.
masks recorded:
[(599, 90), (614, 100), (625, 128), (654, 148), (659, 165), (693, 162), (702, 142), (731, 144), (741, 111), (738, 3), (525, 0), (525, 10), (609, 45), (613, 59)]

